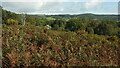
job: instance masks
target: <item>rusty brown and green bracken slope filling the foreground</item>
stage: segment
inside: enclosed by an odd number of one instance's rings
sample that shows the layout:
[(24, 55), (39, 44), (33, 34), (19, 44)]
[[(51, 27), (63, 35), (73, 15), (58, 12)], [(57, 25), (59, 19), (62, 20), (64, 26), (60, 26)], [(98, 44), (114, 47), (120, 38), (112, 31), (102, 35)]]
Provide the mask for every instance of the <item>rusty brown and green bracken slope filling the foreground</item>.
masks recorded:
[(117, 66), (117, 36), (29, 26), (3, 30), (3, 66)]

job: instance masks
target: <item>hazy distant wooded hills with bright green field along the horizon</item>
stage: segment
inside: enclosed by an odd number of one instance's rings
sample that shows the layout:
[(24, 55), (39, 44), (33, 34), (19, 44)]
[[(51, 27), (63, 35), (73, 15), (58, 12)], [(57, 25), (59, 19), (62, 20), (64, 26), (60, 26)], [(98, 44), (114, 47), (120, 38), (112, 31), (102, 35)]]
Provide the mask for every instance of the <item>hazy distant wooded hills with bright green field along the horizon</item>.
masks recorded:
[(98, 14), (91, 14), (91, 13), (86, 13), (86, 14), (78, 14), (78, 15), (33, 15), (37, 17), (42, 17), (42, 18), (50, 18), (51, 19), (71, 19), (74, 17), (77, 18), (89, 18), (89, 19), (98, 19), (98, 20), (118, 20), (118, 15), (98, 15)]

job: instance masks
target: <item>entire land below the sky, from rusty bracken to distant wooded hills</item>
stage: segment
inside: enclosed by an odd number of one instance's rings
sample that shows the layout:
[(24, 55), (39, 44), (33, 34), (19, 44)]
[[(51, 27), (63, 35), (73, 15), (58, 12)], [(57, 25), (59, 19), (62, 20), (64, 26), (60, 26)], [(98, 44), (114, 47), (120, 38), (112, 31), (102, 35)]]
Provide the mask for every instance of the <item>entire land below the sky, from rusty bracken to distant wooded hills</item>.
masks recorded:
[(3, 66), (118, 66), (117, 15), (29, 15), (2, 9)]

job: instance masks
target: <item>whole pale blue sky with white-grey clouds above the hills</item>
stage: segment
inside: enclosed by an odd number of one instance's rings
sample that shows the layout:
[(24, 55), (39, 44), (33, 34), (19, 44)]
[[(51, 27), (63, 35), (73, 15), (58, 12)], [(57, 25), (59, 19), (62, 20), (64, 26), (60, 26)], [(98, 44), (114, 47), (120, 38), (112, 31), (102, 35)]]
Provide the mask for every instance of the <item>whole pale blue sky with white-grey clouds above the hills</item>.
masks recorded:
[(118, 0), (4, 0), (2, 7), (27, 14), (118, 14)]

